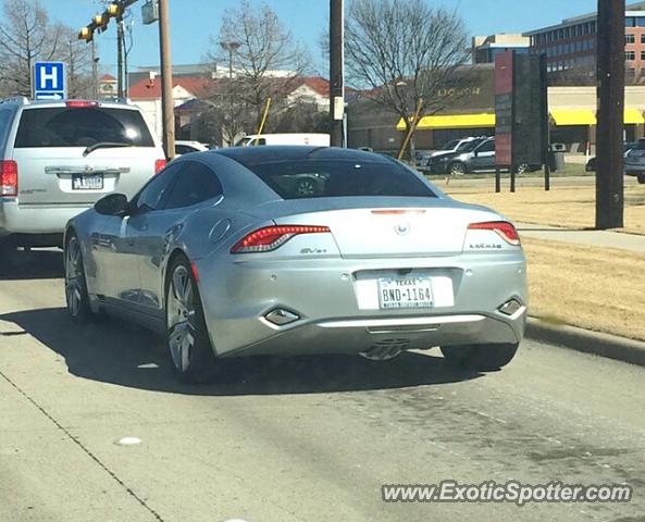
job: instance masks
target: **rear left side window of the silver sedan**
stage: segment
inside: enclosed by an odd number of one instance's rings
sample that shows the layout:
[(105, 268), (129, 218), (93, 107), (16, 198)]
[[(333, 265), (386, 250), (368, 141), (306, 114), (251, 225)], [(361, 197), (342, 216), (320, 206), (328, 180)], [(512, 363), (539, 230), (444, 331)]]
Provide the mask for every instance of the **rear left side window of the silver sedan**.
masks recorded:
[(213, 170), (203, 163), (190, 161), (171, 188), (163, 208), (170, 210), (191, 207), (222, 194), (222, 184)]

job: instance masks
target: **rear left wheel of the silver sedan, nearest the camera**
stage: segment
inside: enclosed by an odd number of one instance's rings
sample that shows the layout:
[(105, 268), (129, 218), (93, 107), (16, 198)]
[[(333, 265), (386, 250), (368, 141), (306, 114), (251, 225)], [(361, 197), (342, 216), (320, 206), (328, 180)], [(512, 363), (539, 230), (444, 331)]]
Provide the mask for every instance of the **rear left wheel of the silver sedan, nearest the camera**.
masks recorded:
[(178, 381), (203, 384), (216, 377), (221, 362), (211, 346), (199, 288), (190, 262), (177, 256), (165, 283), (166, 346)]

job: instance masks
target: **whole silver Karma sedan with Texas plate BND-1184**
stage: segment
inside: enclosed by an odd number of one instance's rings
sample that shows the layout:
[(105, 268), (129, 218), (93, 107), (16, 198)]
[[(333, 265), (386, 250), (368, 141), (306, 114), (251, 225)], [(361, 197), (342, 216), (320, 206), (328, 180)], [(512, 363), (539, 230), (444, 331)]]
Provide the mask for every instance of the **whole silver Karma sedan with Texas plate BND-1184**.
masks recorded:
[[(310, 194), (294, 179), (317, 176)], [(441, 346), (492, 371), (526, 313), (513, 225), (390, 158), (228, 148), (173, 161), (134, 198), (107, 196), (65, 234), (75, 321), (115, 313), (163, 334), (182, 381), (227, 358)]]

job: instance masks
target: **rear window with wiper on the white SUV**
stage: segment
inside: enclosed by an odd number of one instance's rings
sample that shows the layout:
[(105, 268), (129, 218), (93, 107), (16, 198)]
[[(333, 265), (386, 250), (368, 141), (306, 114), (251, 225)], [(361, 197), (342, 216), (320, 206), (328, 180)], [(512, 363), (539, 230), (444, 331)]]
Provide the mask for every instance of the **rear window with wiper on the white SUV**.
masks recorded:
[(15, 138), (16, 148), (89, 147), (99, 142), (154, 147), (139, 111), (114, 108), (26, 109)]

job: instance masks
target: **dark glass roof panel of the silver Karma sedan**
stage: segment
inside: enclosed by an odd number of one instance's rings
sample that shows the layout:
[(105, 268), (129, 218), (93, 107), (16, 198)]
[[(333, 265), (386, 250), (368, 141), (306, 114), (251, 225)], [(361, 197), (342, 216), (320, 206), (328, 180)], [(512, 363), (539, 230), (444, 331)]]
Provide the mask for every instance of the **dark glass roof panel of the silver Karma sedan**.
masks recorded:
[(277, 163), (283, 161), (301, 161), (315, 158), (318, 160), (345, 160), (361, 162), (387, 163), (394, 161), (381, 154), (358, 149), (342, 149), (338, 147), (313, 146), (260, 146), (260, 147), (228, 147), (216, 149), (209, 154), (221, 154), (244, 165), (261, 163)]

